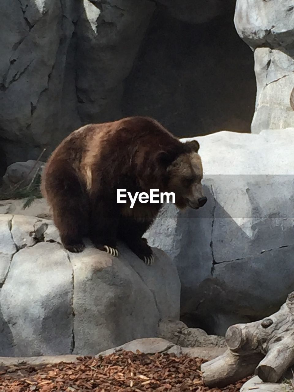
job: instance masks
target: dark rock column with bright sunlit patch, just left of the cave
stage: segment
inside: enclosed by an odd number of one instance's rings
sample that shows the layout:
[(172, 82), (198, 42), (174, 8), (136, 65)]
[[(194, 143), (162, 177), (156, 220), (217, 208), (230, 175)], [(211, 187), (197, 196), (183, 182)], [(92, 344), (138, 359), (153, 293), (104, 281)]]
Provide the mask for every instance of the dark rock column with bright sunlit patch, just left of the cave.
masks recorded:
[(155, 4), (149, 0), (83, 0), (76, 23), (76, 94), (83, 123), (123, 117), (125, 78), (132, 69)]

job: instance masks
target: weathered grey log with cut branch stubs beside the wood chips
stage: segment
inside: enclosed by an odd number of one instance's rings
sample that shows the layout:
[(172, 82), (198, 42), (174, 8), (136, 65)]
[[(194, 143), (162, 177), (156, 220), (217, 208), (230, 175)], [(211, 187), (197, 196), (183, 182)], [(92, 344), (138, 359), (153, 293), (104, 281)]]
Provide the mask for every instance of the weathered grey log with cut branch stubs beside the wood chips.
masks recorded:
[(294, 363), (294, 292), (270, 317), (229, 327), (226, 341), (228, 350), (201, 366), (208, 387), (222, 387), (253, 372), (264, 382), (278, 381)]

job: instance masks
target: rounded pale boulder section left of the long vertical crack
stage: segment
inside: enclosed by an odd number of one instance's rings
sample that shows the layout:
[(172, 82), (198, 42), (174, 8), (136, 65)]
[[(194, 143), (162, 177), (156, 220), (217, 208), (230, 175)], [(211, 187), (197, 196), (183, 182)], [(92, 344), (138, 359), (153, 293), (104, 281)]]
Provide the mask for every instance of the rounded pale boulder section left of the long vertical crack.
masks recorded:
[(38, 243), (19, 250), (0, 292), (0, 323), (10, 332), (1, 334), (2, 355), (69, 352), (72, 296), (71, 263), (60, 245)]

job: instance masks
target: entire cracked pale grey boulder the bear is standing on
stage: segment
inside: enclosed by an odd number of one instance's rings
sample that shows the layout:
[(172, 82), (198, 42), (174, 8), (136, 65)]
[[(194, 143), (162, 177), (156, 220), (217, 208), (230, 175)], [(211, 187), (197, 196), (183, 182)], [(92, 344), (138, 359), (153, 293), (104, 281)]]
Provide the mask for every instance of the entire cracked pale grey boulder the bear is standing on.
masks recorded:
[(51, 220), (0, 215), (0, 356), (93, 355), (178, 319), (172, 260), (154, 249), (147, 267), (118, 250), (113, 258), (88, 244), (72, 254)]

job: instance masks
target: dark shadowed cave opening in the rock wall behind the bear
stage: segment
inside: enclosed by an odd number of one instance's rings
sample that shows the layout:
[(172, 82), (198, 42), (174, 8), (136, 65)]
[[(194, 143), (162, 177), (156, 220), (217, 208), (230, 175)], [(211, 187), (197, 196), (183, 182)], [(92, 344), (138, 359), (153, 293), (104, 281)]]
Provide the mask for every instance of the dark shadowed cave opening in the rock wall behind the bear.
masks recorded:
[(159, 8), (125, 81), (123, 115), (154, 117), (181, 137), (250, 132), (254, 58), (233, 18), (189, 24)]

